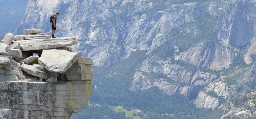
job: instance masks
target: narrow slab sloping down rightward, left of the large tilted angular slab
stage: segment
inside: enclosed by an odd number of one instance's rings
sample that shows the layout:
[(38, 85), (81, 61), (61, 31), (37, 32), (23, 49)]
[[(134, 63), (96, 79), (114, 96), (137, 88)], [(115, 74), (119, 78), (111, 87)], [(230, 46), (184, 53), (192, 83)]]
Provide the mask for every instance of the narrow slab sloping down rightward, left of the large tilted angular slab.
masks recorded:
[[(34, 64), (36, 65), (36, 64)], [(55, 79), (54, 81), (57, 81), (57, 74), (53, 73), (47, 73), (44, 70), (41, 70), (42, 68), (37, 68), (38, 66), (32, 66), (32, 65), (27, 65), (27, 64), (22, 64), (21, 69), (25, 71), (28, 74), (31, 74), (35, 77), (41, 77), (43, 79)]]

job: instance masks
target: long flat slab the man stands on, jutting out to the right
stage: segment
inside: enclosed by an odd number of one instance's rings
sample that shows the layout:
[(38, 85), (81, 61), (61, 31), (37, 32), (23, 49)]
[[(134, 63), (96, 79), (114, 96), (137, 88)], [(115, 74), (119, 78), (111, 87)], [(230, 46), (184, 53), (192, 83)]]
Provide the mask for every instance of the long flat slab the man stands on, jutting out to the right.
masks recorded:
[(16, 40), (20, 43), (21, 51), (31, 51), (40, 49), (61, 48), (77, 44), (75, 37), (62, 37), (56, 39), (34, 39), (34, 40)]

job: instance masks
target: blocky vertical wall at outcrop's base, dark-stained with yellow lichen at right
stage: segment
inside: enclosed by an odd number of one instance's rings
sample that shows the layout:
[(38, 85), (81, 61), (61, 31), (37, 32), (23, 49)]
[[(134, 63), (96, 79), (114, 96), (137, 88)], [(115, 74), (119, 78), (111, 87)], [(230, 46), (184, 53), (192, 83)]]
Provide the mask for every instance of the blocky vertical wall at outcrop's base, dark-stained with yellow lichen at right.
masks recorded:
[[(10, 90), (11, 89), (11, 90)], [(68, 119), (86, 108), (91, 81), (0, 82), (0, 116), (8, 119)], [(19, 113), (18, 113), (19, 112)], [(16, 117), (19, 116), (19, 117)]]

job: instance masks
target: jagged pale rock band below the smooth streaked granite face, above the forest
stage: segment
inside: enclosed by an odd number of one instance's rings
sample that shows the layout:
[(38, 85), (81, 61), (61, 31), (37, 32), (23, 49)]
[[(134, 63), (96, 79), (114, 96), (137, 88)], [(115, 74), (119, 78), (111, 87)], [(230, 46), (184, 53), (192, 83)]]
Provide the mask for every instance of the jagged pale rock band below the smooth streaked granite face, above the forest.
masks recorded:
[[(151, 57), (143, 62), (143, 65), (137, 69), (133, 76), (133, 85), (129, 88), (130, 91), (145, 90), (151, 87), (159, 87), (164, 93), (172, 95), (174, 93), (184, 94), (190, 100), (196, 98), (199, 91), (204, 85), (215, 80), (217, 76), (196, 69), (186, 69), (181, 65), (172, 64), (170, 59), (167, 61), (159, 60), (154, 62), (159, 57)], [(166, 75), (166, 78), (150, 79), (146, 74)], [(112, 72), (110, 71), (110, 74)], [(172, 83), (168, 78), (176, 82)]]

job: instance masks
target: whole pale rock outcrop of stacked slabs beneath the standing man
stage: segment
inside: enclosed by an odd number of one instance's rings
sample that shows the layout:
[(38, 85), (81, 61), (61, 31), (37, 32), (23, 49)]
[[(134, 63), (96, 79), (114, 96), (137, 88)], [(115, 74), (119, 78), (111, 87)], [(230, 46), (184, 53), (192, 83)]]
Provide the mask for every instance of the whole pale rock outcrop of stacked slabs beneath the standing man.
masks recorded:
[(0, 118), (69, 118), (86, 108), (93, 91), (93, 61), (50, 39), (41, 29), (6, 34), (0, 43)]

